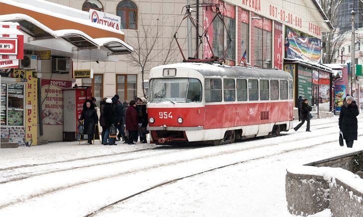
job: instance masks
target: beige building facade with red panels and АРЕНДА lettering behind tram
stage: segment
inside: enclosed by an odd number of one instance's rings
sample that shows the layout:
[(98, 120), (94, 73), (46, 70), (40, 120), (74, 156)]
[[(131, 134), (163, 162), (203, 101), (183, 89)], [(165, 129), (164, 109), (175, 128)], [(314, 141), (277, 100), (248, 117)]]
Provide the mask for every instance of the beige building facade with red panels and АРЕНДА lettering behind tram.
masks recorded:
[[(199, 41), (198, 31), (203, 43), (198, 49), (197, 58), (218, 56), (226, 59), (226, 64), (238, 65), (242, 56), (245, 56), (248, 66), (277, 69), (284, 69), (286, 60), (294, 60), (303, 62), (311, 70), (326, 70), (325, 67), (319, 67), (320, 40), (322, 32), (329, 32), (332, 26), (329, 22), (324, 22), (327, 17), (316, 0), (190, 0), (190, 4), (204, 3), (203, 7), (191, 10), (194, 21), (197, 18), (199, 20), (198, 30), (188, 30), (187, 19), (181, 22), (186, 12), (185, 0), (49, 1), (83, 10), (92, 7), (121, 16), (125, 38), (135, 48), (134, 54), (139, 54), (137, 57), (145, 57), (147, 49), (150, 49), (146, 47), (146, 41), (149, 44), (155, 42), (155, 50), (149, 56), (152, 58), (146, 63), (141, 61), (144, 64), (135, 61), (135, 58), (122, 59), (116, 63), (76, 64), (76, 68), (94, 69), (94, 79), (78, 80), (77, 83), (91, 85), (97, 100), (116, 93), (120, 95), (121, 101), (140, 97), (143, 95), (142, 81), (148, 79), (150, 68), (182, 61), (181, 53), (173, 41), (173, 35), (180, 24), (178, 41), (181, 42), (185, 59), (188, 32), (191, 34), (190, 47), (195, 53)], [(216, 14), (221, 16), (215, 17)], [(205, 29), (208, 29), (208, 39), (202, 35)], [(158, 37), (158, 40), (153, 40), (154, 37)], [(302, 41), (306, 43), (301, 43)], [(313, 72), (310, 73), (312, 77)], [(312, 95), (312, 88), (307, 91)]]

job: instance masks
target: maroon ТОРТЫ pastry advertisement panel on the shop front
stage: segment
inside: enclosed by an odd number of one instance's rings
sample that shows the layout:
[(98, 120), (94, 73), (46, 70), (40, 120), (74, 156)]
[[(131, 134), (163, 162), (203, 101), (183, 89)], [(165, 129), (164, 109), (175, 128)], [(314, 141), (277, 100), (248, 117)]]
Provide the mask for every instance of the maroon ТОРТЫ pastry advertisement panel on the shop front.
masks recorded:
[(63, 125), (63, 88), (72, 81), (41, 80), (42, 119), (44, 125)]

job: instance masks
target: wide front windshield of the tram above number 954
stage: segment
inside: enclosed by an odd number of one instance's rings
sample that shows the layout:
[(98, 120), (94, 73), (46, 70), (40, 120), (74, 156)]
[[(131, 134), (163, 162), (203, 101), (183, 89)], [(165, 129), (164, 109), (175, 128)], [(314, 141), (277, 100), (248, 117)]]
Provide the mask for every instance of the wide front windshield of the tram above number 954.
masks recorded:
[(201, 102), (201, 83), (195, 78), (154, 78), (150, 102)]

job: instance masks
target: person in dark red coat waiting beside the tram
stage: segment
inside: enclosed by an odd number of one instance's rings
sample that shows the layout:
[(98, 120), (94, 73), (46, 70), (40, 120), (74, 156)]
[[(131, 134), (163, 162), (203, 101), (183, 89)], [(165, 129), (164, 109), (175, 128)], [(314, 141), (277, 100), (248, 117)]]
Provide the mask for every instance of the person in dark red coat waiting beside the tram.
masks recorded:
[(134, 145), (134, 140), (138, 136), (138, 112), (136, 111), (136, 102), (131, 100), (129, 108), (126, 111), (126, 130), (129, 131), (129, 145)]

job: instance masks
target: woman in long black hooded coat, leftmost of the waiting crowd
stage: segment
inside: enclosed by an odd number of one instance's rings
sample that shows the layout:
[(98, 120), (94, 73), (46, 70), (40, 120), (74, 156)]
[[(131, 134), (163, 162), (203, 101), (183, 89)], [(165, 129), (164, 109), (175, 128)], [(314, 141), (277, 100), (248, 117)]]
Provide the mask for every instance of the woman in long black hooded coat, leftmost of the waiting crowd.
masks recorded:
[(98, 124), (98, 116), (95, 109), (95, 106), (93, 105), (92, 101), (87, 99), (83, 103), (83, 110), (82, 115), (79, 118), (79, 121), (84, 120), (84, 132), (88, 135), (88, 144), (92, 144), (92, 138), (95, 134), (95, 125)]

